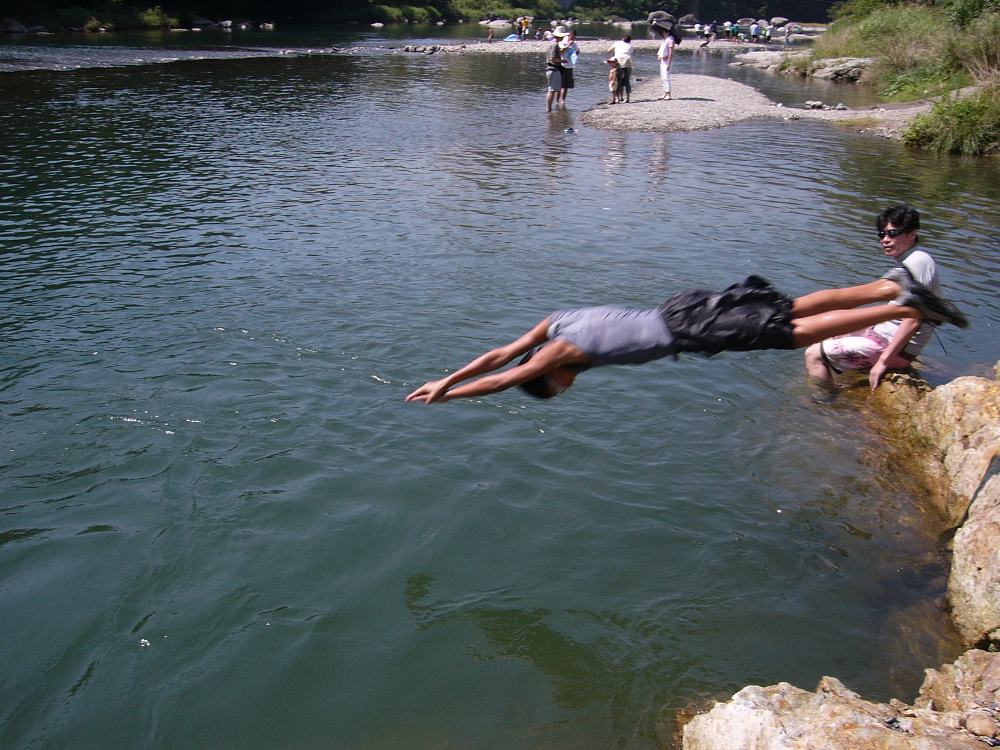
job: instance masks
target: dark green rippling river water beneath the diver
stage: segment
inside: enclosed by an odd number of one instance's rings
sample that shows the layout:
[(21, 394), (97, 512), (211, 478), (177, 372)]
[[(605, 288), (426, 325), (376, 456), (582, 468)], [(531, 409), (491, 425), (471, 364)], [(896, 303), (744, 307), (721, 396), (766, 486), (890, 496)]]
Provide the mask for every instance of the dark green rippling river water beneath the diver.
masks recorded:
[[(178, 38), (2, 48), (103, 67), (0, 75), (0, 745), (651, 748), (691, 700), (911, 699), (954, 654), (939, 524), (799, 353), (402, 399), (557, 308), (871, 279), (894, 201), (973, 320), (925, 373), (982, 374), (995, 162), (579, 129), (597, 61), (547, 116), (537, 55)], [(225, 59), (121, 62), (170, 50)], [(725, 63), (678, 69), (815, 95)]]

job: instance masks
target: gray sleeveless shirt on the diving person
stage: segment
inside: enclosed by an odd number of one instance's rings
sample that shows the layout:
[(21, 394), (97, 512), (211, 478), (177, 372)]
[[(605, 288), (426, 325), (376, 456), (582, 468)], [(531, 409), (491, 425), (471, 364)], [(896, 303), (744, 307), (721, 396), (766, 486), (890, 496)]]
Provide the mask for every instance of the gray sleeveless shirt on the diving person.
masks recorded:
[(659, 308), (578, 307), (549, 316), (549, 340), (566, 341), (601, 365), (637, 365), (674, 354)]

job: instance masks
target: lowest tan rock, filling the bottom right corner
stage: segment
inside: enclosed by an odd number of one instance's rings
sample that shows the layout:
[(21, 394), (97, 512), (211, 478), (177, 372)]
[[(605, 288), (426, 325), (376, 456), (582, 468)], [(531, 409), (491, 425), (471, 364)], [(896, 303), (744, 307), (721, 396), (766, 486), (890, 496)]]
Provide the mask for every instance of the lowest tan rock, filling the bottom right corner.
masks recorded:
[(913, 706), (874, 703), (834, 677), (810, 693), (750, 685), (684, 727), (684, 750), (983, 750), (998, 733), (1000, 654), (928, 669)]

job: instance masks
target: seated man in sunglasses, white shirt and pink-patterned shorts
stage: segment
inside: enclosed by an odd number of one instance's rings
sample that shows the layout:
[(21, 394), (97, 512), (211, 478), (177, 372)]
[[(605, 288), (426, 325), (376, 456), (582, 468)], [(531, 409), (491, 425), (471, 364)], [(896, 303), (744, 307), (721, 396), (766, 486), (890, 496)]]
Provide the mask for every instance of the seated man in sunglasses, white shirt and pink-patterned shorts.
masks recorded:
[[(879, 244), (896, 263), (883, 278), (909, 276), (935, 294), (941, 293), (937, 266), (923, 250), (917, 250), (920, 214), (908, 206), (890, 206), (875, 219)], [(903, 370), (931, 340), (934, 326), (919, 320), (897, 318), (813, 344), (805, 351), (806, 371), (813, 382), (829, 394), (835, 393), (833, 374), (845, 370), (868, 370), (872, 390), (878, 388), (887, 370)]]

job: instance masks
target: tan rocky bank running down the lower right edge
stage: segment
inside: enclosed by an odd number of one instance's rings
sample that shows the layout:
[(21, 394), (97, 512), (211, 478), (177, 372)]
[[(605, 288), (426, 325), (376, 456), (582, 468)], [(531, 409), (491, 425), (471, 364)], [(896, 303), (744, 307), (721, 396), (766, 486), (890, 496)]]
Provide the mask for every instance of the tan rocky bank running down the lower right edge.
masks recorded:
[(745, 687), (683, 727), (684, 750), (1000, 745), (1000, 383), (962, 377), (931, 389), (894, 375), (869, 406), (873, 422), (922, 475), (926, 503), (957, 526), (948, 600), (972, 648), (927, 669), (912, 705), (866, 701), (829, 676), (812, 693), (785, 682)]

